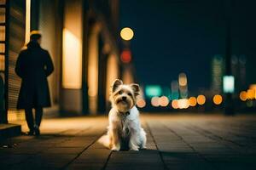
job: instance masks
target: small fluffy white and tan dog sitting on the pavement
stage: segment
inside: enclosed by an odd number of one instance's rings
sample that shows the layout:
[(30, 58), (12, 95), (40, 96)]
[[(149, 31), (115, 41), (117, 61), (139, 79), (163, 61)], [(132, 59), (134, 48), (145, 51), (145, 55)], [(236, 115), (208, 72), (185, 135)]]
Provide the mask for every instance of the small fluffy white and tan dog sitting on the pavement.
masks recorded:
[(123, 84), (119, 79), (113, 82), (110, 100), (112, 109), (108, 114), (108, 133), (99, 142), (111, 150), (146, 148), (146, 133), (141, 127), (136, 100), (138, 84)]

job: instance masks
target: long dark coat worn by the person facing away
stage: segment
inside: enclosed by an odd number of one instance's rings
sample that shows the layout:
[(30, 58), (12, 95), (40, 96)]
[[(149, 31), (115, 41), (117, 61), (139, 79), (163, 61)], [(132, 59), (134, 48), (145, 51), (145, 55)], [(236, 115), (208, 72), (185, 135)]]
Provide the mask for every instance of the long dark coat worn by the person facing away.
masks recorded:
[(15, 72), (22, 79), (17, 109), (49, 107), (47, 77), (54, 65), (47, 50), (38, 42), (29, 42), (18, 56)]

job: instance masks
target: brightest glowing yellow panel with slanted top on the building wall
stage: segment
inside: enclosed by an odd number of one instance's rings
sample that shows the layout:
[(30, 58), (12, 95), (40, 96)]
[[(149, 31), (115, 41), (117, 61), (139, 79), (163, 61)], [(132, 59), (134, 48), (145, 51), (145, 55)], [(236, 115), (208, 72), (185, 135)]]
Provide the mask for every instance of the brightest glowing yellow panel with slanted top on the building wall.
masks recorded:
[(79, 89), (82, 86), (82, 45), (72, 31), (63, 29), (63, 88)]

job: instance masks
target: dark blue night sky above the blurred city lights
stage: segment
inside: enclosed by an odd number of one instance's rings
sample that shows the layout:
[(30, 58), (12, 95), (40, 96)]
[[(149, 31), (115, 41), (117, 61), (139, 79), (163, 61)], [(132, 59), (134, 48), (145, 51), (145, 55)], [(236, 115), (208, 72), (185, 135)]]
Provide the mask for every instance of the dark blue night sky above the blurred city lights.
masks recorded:
[[(254, 59), (256, 3), (233, 2), (233, 54)], [(120, 0), (120, 28), (135, 32), (131, 50), (137, 81), (170, 87), (185, 72), (189, 90), (210, 88), (211, 59), (225, 54), (226, 11), (222, 0)]]

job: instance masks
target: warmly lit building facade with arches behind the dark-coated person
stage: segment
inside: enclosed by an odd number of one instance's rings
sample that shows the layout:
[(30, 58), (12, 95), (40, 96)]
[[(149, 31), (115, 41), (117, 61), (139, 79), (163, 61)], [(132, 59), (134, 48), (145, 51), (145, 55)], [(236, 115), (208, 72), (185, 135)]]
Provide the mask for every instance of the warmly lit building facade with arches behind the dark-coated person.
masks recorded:
[(108, 110), (108, 88), (127, 66), (119, 59), (119, 0), (1, 0), (0, 7), (5, 95), (1, 122), (7, 122), (7, 115), (9, 119), (24, 117), (23, 111), (15, 109), (21, 81), (15, 75), (15, 62), (32, 30), (42, 32), (41, 46), (49, 50), (55, 65), (49, 77), (52, 106), (45, 114)]

